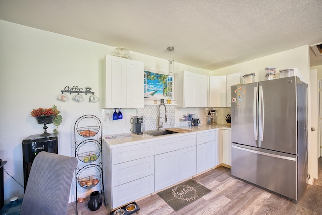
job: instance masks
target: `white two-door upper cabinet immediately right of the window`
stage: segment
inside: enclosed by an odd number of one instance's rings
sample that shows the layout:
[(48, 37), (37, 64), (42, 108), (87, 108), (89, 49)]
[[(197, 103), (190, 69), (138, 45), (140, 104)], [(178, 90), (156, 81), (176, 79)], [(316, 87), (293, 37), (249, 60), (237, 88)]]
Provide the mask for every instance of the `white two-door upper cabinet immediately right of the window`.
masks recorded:
[(208, 107), (208, 76), (182, 71), (175, 74), (178, 107)]

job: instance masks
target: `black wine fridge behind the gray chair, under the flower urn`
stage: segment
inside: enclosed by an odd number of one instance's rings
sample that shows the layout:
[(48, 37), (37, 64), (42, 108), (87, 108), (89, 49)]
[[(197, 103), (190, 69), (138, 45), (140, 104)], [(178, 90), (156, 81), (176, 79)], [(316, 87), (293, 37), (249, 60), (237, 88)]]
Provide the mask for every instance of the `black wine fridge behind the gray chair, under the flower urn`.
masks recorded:
[(31, 169), (32, 162), (41, 151), (58, 154), (58, 133), (50, 136), (32, 135), (22, 141), (22, 156), (24, 165), (24, 191)]

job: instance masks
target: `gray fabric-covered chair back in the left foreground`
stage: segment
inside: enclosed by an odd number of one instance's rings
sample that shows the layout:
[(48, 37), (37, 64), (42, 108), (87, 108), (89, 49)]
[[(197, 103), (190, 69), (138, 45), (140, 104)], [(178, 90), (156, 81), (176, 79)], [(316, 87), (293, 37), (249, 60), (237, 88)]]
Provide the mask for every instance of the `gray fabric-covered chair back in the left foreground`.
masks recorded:
[(77, 164), (75, 157), (40, 152), (30, 170), (20, 214), (67, 214)]

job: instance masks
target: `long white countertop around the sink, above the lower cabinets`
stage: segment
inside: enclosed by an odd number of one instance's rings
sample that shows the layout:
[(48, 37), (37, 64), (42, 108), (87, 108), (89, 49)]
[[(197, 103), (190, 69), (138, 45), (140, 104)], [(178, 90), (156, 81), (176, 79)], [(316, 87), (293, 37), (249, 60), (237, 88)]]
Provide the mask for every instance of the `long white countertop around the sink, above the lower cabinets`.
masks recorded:
[(189, 127), (188, 130), (191, 130), (191, 132), (185, 132), (185, 133), (174, 133), (174, 134), (167, 134), (163, 136), (150, 136), (147, 134), (137, 135), (134, 133), (125, 133), (125, 134), (111, 134), (111, 135), (104, 135), (103, 140), (105, 144), (110, 148), (116, 148), (116, 147), (123, 147), (123, 146), (130, 146), (133, 144), (139, 144), (141, 142), (147, 142), (147, 141), (154, 141), (157, 139), (166, 139), (169, 137), (175, 137), (175, 136), (182, 136), (187, 135), (189, 133), (194, 132), (203, 132), (203, 131), (209, 131), (209, 130), (217, 130), (217, 129), (225, 129), (225, 130), (231, 130), (230, 126), (227, 125), (200, 125), (200, 126), (193, 126)]

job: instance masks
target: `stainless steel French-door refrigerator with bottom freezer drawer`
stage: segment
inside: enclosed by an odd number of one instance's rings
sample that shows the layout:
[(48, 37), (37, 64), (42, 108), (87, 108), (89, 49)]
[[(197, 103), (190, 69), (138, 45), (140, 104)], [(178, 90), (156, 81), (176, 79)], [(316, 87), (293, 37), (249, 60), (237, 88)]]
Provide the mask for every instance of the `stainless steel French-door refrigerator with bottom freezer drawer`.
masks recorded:
[(297, 203), (306, 189), (307, 84), (286, 77), (231, 86), (231, 174)]

